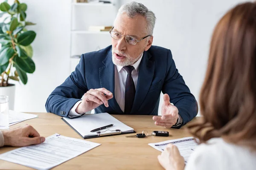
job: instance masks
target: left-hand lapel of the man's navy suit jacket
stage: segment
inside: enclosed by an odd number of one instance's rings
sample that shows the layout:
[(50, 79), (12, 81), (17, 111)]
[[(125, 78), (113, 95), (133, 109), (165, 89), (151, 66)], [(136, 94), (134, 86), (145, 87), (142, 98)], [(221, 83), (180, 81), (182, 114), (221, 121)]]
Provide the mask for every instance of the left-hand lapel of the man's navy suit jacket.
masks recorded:
[(108, 52), (107, 57), (102, 61), (105, 66), (99, 68), (99, 81), (101, 88), (111, 91), (113, 98), (108, 100), (108, 105), (117, 113), (123, 114), (115, 99), (115, 65), (112, 62), (112, 52)]

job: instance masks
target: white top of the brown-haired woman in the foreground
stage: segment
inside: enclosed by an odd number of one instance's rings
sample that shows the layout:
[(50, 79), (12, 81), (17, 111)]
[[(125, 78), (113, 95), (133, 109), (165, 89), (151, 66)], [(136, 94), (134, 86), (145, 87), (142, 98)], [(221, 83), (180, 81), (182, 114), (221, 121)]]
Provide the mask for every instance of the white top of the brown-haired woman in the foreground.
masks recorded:
[(222, 138), (200, 144), (189, 157), (185, 170), (255, 170), (256, 151), (225, 142)]

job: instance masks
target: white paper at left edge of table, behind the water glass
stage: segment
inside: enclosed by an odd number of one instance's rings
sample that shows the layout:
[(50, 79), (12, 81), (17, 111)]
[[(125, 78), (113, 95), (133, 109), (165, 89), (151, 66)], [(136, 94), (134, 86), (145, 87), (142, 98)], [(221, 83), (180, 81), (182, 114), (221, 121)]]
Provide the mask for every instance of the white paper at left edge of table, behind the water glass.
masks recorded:
[[(23, 122), (28, 119), (37, 118), (36, 114), (22, 113), (9, 110), (9, 126), (15, 125), (17, 123)], [(8, 129), (9, 127), (1, 126), (0, 129)]]

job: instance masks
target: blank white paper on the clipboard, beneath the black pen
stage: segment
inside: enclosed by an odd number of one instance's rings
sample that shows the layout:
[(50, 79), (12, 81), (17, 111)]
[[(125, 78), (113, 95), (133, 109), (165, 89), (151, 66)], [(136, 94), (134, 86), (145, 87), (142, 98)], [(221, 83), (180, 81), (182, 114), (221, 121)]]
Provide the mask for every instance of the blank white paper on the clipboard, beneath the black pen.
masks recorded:
[(90, 132), (93, 129), (113, 124), (112, 127), (108, 127), (99, 130), (101, 133), (111, 132), (111, 130), (121, 130), (121, 132), (133, 132), (134, 129), (120, 122), (108, 113), (98, 114), (85, 114), (76, 119), (63, 118), (73, 129), (75, 129), (82, 137), (85, 136), (97, 136), (97, 132)]

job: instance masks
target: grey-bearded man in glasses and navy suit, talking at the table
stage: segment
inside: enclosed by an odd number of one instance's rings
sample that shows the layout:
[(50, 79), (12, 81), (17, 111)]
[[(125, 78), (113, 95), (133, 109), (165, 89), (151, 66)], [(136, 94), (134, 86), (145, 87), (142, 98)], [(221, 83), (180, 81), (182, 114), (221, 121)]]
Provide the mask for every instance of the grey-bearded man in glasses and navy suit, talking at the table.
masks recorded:
[[(81, 55), (76, 70), (50, 94), (47, 112), (70, 118), (95, 113), (162, 116), (155, 125), (179, 128), (197, 114), (197, 102), (169, 49), (152, 46), (155, 15), (141, 3), (123, 5), (110, 31), (112, 45)], [(82, 99), (81, 99), (82, 98)]]

